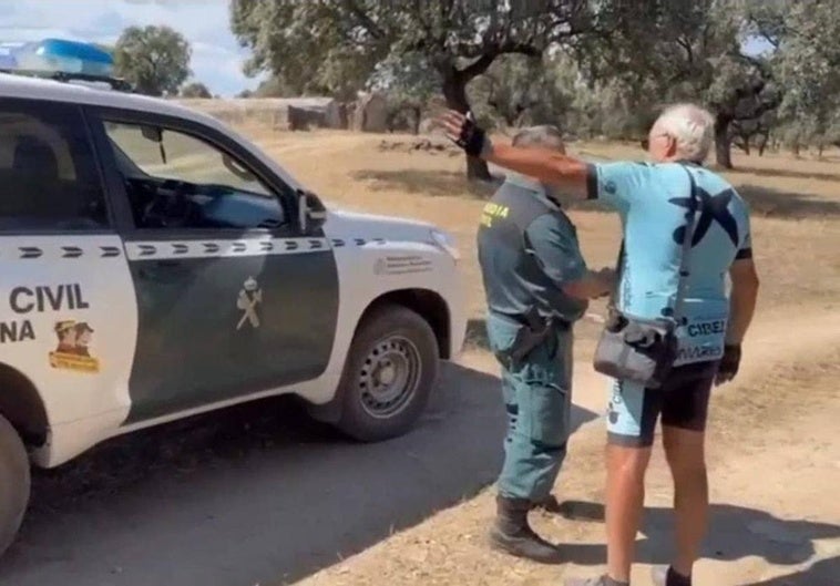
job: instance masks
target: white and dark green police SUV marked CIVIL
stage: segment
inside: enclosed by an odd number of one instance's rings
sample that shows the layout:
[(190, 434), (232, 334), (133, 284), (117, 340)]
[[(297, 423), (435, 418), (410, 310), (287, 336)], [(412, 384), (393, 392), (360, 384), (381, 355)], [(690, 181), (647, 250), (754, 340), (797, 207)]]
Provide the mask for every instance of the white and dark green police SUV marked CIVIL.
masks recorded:
[(464, 338), (448, 234), (327, 209), (211, 116), (47, 76), (0, 73), (0, 551), (30, 463), (119, 434), (280, 393), (359, 441), (416, 422)]

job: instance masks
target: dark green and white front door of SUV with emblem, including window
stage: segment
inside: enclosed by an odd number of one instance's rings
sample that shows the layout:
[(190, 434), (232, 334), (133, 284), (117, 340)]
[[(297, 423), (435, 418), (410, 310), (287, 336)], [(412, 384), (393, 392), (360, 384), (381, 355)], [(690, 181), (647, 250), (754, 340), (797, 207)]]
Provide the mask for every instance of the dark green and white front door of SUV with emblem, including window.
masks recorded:
[(338, 277), (295, 194), (215, 128), (95, 110), (137, 296), (129, 422), (311, 380), (332, 349)]

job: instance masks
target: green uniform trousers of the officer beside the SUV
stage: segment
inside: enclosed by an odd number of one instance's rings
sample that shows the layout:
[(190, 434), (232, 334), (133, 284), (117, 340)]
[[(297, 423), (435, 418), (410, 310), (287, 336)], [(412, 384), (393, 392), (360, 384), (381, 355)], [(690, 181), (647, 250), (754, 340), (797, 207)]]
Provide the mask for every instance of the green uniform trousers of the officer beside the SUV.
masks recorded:
[(499, 494), (540, 502), (551, 493), (566, 455), (572, 408), (572, 328), (555, 328), (518, 363), (506, 359), (521, 325), (490, 313), (490, 348), (502, 364), (508, 411)]

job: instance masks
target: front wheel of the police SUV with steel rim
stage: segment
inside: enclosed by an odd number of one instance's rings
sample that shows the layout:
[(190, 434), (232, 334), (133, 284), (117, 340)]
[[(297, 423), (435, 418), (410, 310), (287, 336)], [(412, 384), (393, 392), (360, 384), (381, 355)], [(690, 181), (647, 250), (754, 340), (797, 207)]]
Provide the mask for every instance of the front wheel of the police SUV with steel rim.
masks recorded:
[(439, 356), (434, 332), (418, 313), (397, 305), (372, 310), (350, 345), (337, 428), (361, 442), (407, 433), (429, 402)]

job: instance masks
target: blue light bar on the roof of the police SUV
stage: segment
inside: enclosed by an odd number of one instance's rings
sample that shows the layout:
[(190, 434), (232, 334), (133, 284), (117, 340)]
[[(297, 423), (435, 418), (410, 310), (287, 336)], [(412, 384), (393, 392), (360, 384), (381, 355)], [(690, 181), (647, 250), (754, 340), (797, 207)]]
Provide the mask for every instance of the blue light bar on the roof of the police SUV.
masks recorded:
[(90, 43), (64, 39), (44, 39), (11, 49), (17, 66), (32, 71), (55, 71), (112, 76), (114, 60), (107, 51)]

